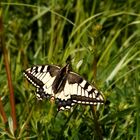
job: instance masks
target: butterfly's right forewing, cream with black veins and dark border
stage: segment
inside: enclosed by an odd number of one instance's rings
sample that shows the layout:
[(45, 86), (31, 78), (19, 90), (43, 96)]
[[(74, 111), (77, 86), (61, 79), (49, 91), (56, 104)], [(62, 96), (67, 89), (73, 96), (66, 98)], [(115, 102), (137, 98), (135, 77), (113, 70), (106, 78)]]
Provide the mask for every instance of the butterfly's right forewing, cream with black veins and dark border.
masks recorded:
[(101, 92), (90, 85), (80, 75), (70, 72), (68, 74), (68, 82), (72, 88), (70, 92), (71, 99), (75, 103), (96, 105), (104, 102)]

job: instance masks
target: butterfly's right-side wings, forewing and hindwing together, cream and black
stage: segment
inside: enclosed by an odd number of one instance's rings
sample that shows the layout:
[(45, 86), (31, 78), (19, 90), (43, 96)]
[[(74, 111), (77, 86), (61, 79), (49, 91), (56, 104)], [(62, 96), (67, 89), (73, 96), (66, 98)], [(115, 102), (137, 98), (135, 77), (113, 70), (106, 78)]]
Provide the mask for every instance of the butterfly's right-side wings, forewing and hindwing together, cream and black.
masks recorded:
[(69, 72), (65, 87), (57, 94), (59, 110), (70, 109), (74, 104), (97, 105), (104, 103), (102, 93), (80, 75)]

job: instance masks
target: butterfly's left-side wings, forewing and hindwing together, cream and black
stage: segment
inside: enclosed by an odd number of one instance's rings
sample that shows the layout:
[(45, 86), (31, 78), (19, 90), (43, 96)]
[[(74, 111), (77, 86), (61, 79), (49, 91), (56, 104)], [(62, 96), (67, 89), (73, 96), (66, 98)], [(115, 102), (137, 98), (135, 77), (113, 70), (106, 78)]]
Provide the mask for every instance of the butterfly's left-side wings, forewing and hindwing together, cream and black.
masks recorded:
[(38, 99), (48, 98), (53, 95), (52, 83), (60, 67), (54, 65), (33, 66), (24, 71), (27, 80), (37, 88)]

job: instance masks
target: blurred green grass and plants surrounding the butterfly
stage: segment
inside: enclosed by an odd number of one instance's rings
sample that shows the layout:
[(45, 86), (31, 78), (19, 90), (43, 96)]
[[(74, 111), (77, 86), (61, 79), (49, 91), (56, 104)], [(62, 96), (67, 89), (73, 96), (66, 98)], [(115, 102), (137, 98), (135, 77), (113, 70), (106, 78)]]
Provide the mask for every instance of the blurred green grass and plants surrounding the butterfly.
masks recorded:
[[(0, 48), (0, 111), (7, 118), (1, 117), (0, 139), (139, 140), (140, 2), (12, 2), (3, 1), (0, 8), (0, 35), (12, 77), (7, 78)], [(73, 71), (103, 92), (106, 103), (95, 112), (82, 105), (57, 112), (50, 101), (37, 101), (23, 77), (33, 65), (64, 66), (69, 56)], [(8, 81), (14, 89), (16, 129)]]

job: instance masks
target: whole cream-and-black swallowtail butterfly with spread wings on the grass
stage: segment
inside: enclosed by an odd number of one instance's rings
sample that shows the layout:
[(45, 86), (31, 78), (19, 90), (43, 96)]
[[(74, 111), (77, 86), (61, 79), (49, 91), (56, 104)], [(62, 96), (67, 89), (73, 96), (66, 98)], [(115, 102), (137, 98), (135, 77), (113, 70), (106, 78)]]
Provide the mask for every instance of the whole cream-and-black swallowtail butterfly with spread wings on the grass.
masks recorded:
[(103, 104), (100, 91), (80, 75), (69, 70), (69, 64), (60, 68), (55, 65), (33, 66), (24, 71), (24, 76), (35, 86), (36, 97), (55, 99), (58, 110), (70, 109), (78, 104)]

